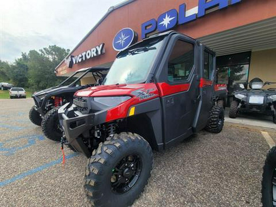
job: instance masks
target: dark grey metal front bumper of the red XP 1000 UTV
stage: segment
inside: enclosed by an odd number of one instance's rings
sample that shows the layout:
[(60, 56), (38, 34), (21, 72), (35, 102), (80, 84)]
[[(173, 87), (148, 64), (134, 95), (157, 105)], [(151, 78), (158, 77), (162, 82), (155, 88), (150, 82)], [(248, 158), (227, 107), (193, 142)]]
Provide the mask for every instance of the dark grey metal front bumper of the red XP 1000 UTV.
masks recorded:
[(105, 122), (106, 110), (98, 111), (96, 113), (82, 114), (77, 105), (67, 103), (59, 108), (59, 123), (63, 128), (67, 142), (75, 148), (76, 151), (90, 156), (91, 152), (88, 150), (83, 142), (83, 137), (89, 136), (90, 129), (95, 125)]

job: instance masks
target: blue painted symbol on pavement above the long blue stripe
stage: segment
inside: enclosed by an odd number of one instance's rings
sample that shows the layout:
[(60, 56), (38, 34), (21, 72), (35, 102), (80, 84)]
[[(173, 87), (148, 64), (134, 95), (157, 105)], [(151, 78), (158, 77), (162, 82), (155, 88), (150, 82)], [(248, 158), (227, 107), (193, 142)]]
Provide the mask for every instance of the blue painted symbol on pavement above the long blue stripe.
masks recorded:
[[(21, 146), (17, 146), (17, 147), (4, 147), (4, 145), (6, 143), (12, 143), (14, 141), (17, 140), (27, 140), (26, 144), (22, 144)], [(18, 136), (15, 137), (13, 139), (10, 140), (6, 140), (6, 141), (0, 141), (0, 152), (4, 152), (2, 155), (6, 155), (6, 156), (11, 156), (13, 155), (15, 152), (28, 148), (34, 144), (36, 144), (36, 141), (40, 141), (40, 140), (44, 140), (44, 136), (43, 135), (27, 135), (27, 136)], [(25, 143), (25, 142), (24, 142)]]

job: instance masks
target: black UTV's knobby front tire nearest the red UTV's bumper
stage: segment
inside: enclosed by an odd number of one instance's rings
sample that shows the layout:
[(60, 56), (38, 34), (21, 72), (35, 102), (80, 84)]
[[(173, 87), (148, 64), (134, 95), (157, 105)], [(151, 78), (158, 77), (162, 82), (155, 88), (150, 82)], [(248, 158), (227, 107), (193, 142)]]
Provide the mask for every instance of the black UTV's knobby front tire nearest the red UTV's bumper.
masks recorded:
[(48, 111), (42, 119), (41, 128), (44, 135), (53, 141), (60, 142), (62, 131), (59, 129), (59, 107), (53, 108)]

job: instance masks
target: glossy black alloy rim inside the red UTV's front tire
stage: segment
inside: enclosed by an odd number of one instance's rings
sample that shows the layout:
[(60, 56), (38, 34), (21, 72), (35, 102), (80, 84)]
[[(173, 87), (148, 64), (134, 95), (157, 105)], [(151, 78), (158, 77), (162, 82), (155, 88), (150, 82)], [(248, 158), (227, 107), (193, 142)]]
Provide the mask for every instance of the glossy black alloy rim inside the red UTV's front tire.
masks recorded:
[(139, 155), (129, 155), (113, 168), (111, 190), (115, 193), (128, 192), (137, 182), (142, 171), (142, 160)]

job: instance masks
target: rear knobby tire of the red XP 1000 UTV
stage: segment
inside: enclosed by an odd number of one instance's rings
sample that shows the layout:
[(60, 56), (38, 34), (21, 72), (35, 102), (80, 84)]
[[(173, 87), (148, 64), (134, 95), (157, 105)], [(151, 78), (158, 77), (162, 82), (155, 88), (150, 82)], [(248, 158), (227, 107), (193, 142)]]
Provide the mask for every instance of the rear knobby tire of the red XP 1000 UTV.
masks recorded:
[(205, 126), (205, 130), (212, 133), (221, 132), (224, 125), (224, 109), (220, 106), (213, 106), (210, 112), (210, 118), (208, 124)]

